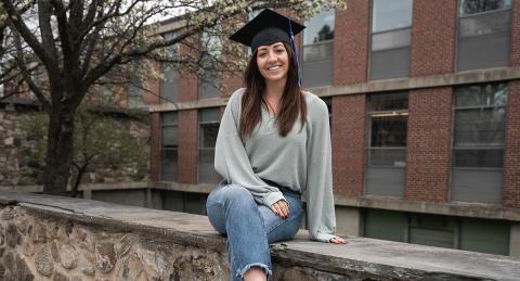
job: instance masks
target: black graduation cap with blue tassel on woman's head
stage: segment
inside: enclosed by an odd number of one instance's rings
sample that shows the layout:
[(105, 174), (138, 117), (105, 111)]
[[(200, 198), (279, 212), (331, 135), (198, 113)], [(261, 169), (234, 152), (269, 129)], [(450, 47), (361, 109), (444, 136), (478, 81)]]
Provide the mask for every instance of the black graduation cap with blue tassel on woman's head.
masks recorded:
[(265, 9), (230, 37), (231, 40), (251, 48), (252, 52), (260, 46), (275, 42), (289, 43), (295, 51), (298, 65), (298, 84), (301, 86), (299, 54), (295, 44), (295, 35), (306, 28), (303, 25), (281, 15), (273, 10)]

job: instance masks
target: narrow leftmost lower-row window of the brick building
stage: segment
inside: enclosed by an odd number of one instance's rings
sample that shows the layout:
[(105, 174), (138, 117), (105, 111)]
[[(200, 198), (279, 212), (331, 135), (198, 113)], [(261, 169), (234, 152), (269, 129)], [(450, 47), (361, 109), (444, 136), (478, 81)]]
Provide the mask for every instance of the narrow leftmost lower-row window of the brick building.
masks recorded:
[(177, 112), (160, 114), (160, 180), (177, 180), (179, 122)]

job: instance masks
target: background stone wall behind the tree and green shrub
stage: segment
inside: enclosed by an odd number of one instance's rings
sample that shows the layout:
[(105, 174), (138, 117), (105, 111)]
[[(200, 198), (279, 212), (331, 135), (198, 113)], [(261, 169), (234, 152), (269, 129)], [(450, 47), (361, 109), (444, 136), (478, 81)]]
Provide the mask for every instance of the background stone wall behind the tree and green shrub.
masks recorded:
[[(27, 131), (29, 119), (38, 112), (35, 108), (0, 107), (0, 187), (11, 189), (20, 186), (42, 183), (43, 162), (35, 158), (38, 142), (44, 140), (35, 138)], [(114, 183), (148, 180), (150, 128), (147, 118), (136, 119), (125, 115), (109, 115), (122, 130), (143, 143), (146, 157), (139, 163), (130, 163), (114, 167), (110, 165), (92, 165), (83, 176), (84, 183)]]

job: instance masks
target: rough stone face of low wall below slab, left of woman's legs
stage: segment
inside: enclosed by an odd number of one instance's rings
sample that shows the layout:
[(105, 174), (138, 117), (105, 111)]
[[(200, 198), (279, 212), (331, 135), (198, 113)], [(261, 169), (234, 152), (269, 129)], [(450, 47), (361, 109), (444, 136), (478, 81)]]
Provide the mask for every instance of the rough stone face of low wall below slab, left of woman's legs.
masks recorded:
[(5, 207), (0, 280), (225, 280), (220, 252)]

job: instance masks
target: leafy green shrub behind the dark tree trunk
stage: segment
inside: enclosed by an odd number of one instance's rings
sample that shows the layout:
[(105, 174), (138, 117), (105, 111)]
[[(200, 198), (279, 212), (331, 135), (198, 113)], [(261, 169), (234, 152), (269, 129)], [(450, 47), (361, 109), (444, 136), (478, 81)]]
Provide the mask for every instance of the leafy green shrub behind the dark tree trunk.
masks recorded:
[[(117, 113), (125, 115), (118, 118), (116, 112), (106, 111), (98, 105), (81, 105), (76, 112), (74, 131), (74, 154), (72, 161), (72, 196), (76, 196), (83, 176), (88, 171), (117, 170), (132, 167), (146, 170), (148, 143), (132, 136), (128, 120), (145, 123), (143, 114), (126, 110)], [(49, 118), (37, 113), (24, 123), (25, 131), (36, 141), (30, 151), (25, 152), (27, 162), (40, 175), (44, 175), (47, 151), (46, 129)], [(144, 125), (144, 124), (143, 124)], [(139, 174), (139, 173), (138, 173)], [(141, 173), (142, 174), (142, 173)], [(38, 177), (37, 180), (40, 180)]]

